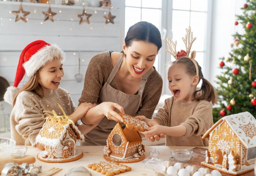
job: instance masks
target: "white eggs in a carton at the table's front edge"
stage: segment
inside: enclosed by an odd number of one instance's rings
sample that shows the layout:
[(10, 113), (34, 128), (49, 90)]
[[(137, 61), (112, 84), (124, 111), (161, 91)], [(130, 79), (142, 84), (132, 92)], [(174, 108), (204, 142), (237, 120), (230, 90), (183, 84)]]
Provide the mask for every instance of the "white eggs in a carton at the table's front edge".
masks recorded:
[(161, 164), (156, 164), (154, 166), (154, 172), (156, 176), (221, 176), (218, 170), (212, 170), (210, 172), (209, 168), (199, 168), (196, 166), (186, 166), (184, 164), (177, 162), (174, 166), (170, 165), (170, 161), (164, 161)]

